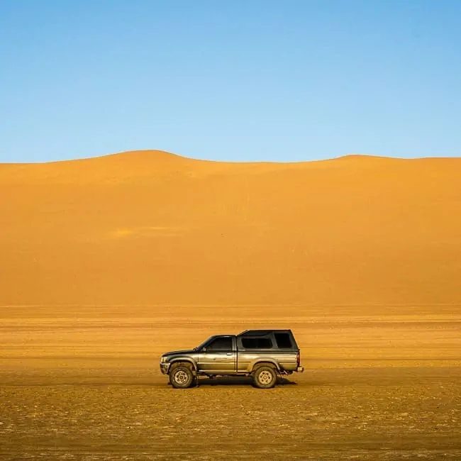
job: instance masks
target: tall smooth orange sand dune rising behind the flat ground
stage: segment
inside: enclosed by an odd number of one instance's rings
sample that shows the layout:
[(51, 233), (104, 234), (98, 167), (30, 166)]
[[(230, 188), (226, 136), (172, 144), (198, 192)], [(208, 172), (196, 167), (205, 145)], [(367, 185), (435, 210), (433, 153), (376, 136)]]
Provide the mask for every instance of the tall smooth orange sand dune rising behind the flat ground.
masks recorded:
[(0, 306), (461, 304), (461, 158), (0, 165)]

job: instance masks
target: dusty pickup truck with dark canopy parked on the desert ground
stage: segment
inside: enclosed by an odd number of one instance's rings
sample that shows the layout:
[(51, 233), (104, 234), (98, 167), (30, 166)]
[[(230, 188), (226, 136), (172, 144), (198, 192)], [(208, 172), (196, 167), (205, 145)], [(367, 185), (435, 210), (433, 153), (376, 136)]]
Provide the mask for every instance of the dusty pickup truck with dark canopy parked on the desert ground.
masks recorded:
[(291, 330), (245, 330), (238, 335), (213, 335), (191, 350), (166, 352), (160, 371), (173, 387), (186, 389), (199, 376), (251, 376), (256, 387), (270, 389), (277, 374), (304, 372)]

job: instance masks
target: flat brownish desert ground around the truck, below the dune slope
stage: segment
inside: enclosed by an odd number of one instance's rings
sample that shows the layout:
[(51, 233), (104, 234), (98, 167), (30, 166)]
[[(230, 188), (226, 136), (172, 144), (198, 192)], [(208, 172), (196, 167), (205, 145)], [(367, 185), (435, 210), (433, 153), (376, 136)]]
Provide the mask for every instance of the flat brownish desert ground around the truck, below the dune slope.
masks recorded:
[[(461, 459), (459, 308), (286, 311), (1, 310), (0, 458)], [(303, 374), (270, 390), (160, 374), (162, 352), (263, 326), (293, 329)]]

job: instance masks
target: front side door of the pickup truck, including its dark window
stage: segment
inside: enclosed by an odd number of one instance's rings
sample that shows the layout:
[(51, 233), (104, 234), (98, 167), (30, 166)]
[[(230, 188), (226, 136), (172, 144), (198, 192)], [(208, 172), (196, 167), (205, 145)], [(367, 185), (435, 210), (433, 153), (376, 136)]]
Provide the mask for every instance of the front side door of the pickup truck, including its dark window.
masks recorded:
[(219, 336), (199, 352), (199, 370), (207, 373), (231, 373), (236, 370), (237, 352), (233, 336)]

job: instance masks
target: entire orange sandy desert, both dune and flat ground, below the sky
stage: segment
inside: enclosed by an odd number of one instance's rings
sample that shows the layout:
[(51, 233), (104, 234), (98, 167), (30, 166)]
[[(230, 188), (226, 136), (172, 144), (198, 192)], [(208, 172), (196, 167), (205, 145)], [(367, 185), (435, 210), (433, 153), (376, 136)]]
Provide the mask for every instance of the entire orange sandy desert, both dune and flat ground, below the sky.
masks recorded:
[[(0, 458), (461, 459), (461, 158), (0, 165)], [(159, 356), (291, 328), (268, 391)]]

